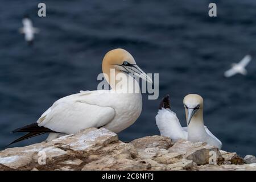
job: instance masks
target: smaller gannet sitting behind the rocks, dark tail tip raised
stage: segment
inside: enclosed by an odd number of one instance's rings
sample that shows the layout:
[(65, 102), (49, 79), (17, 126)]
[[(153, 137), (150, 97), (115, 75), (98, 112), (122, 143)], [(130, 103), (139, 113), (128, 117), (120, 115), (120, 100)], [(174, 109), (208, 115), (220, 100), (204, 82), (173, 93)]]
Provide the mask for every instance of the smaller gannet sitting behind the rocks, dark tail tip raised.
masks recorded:
[(207, 126), (204, 126), (203, 98), (197, 94), (188, 94), (184, 97), (183, 104), (188, 127), (181, 127), (176, 114), (171, 111), (169, 96), (163, 98), (155, 117), (160, 134), (174, 141), (179, 139), (200, 141), (221, 148), (221, 141), (208, 130)]

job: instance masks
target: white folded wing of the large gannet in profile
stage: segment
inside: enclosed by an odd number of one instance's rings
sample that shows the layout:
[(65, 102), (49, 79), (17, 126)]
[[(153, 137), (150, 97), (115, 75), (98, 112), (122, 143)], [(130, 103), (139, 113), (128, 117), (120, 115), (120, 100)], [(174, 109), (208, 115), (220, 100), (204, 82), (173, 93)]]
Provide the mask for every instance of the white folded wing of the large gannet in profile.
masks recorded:
[(55, 102), (37, 123), (56, 132), (73, 134), (89, 127), (102, 127), (112, 121), (114, 116), (115, 110), (112, 107), (64, 99)]

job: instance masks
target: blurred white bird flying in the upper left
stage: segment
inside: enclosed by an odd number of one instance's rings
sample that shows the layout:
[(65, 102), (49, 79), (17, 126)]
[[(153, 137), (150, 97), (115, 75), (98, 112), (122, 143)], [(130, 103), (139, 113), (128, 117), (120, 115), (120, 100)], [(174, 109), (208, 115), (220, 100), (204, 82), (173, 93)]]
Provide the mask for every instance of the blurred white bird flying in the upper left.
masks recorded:
[(34, 40), (34, 34), (39, 32), (39, 28), (33, 27), (31, 19), (25, 15), (22, 19), (23, 27), (19, 28), (19, 32), (25, 35), (25, 40), (28, 44), (32, 44)]

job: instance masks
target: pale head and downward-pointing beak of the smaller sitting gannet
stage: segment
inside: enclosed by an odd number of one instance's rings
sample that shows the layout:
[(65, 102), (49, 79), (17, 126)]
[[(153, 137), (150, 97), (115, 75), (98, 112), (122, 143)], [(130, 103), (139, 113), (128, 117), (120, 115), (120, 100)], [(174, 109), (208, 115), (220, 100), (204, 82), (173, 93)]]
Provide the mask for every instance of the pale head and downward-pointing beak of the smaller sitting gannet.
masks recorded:
[(183, 104), (187, 117), (187, 125), (189, 125), (193, 117), (201, 117), (203, 114), (203, 98), (197, 94), (188, 94), (184, 97)]

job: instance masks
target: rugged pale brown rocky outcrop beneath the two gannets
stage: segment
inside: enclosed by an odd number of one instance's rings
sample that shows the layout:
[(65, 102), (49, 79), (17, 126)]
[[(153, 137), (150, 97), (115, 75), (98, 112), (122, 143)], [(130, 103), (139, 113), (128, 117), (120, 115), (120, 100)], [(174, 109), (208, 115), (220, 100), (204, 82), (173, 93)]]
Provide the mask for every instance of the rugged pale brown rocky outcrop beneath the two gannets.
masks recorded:
[(157, 135), (124, 143), (104, 128), (0, 151), (0, 170), (256, 170), (252, 162), (254, 156)]

